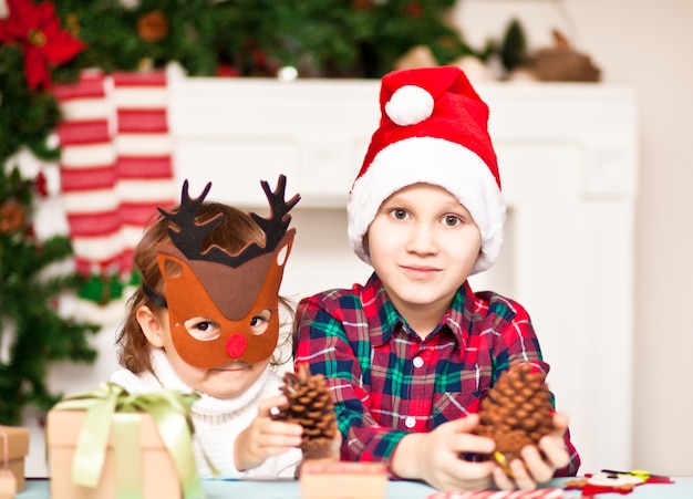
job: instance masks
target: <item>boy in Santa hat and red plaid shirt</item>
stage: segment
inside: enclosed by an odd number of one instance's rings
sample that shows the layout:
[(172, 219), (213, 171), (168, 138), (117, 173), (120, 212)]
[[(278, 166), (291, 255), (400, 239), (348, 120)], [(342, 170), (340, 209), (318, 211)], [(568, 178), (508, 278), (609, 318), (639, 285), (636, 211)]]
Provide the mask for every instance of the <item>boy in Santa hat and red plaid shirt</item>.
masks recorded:
[(457, 67), (390, 73), (380, 103), (348, 205), (351, 245), (374, 273), (297, 311), (296, 362), (328, 378), (342, 458), (384, 461), (442, 490), (527, 489), (575, 475), (560, 413), (554, 433), (510, 462), (514, 478), (478, 459), (494, 443), (474, 434), (476, 413), (500, 373), (520, 362), (549, 370), (525, 309), (467, 283), (503, 243), (487, 105)]

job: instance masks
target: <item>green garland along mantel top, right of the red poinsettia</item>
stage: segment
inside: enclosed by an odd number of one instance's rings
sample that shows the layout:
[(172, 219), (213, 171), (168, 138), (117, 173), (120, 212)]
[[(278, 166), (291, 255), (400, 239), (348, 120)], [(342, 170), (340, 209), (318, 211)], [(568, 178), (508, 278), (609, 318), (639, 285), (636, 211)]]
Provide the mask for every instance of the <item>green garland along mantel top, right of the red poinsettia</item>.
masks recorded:
[[(441, 63), (470, 53), (443, 17), (455, 0), (117, 0), (56, 2), (63, 25), (89, 43), (54, 70), (134, 71), (178, 61), (190, 75), (215, 75), (227, 65), (240, 76), (273, 76), (293, 65), (306, 76), (380, 77), (415, 45), (428, 45)], [(168, 33), (143, 40), (138, 21), (151, 12)]]

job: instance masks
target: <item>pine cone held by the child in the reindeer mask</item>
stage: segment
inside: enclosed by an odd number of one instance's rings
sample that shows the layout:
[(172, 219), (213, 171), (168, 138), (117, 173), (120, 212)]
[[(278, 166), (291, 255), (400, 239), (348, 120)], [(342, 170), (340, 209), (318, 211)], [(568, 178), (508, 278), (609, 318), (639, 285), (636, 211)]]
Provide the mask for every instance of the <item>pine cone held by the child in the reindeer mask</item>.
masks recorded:
[(308, 364), (300, 364), (298, 373), (286, 373), (281, 388), (289, 399), (272, 414), (272, 419), (298, 423), (303, 427), (301, 450), (303, 459), (331, 456), (337, 435), (334, 401), (322, 374), (310, 374)]

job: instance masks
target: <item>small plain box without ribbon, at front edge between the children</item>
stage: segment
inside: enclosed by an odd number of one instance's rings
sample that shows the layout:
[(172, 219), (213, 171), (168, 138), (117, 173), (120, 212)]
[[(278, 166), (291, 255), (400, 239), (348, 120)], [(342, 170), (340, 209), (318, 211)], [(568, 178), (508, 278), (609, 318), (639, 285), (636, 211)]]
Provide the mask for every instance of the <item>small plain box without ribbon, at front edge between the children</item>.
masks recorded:
[(387, 470), (381, 462), (306, 460), (300, 468), (302, 499), (385, 499)]

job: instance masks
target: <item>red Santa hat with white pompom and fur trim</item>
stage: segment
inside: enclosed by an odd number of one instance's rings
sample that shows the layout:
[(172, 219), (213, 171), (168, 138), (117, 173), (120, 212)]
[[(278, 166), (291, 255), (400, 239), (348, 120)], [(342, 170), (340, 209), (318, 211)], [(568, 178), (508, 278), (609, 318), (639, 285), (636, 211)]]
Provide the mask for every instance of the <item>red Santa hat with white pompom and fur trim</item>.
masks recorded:
[(500, 251), (505, 202), (488, 106), (458, 67), (394, 71), (382, 80), (382, 117), (349, 196), (349, 239), (366, 263), (363, 237), (381, 204), (399, 189), (426, 183), (459, 199), (482, 233), (472, 273)]

